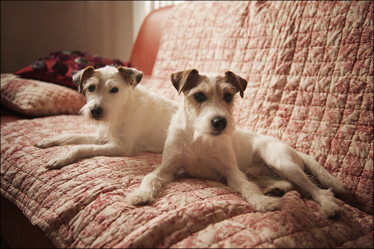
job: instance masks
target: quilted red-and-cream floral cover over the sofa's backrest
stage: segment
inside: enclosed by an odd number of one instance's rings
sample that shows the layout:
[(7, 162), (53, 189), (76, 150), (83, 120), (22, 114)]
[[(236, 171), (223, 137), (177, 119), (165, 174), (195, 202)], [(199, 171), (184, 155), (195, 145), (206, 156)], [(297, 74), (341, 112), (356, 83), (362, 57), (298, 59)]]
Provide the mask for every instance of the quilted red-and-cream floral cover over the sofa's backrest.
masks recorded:
[(178, 4), (144, 86), (178, 99), (170, 74), (191, 68), (246, 78), (236, 125), (314, 156), (373, 214), (373, 1)]

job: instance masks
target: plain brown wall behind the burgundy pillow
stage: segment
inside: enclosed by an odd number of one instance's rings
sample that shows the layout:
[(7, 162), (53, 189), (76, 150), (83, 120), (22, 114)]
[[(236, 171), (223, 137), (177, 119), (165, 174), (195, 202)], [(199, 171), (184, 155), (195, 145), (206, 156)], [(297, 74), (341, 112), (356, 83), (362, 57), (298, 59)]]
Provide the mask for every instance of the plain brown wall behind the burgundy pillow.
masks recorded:
[(127, 61), (132, 11), (133, 1), (1, 0), (1, 73), (64, 49)]

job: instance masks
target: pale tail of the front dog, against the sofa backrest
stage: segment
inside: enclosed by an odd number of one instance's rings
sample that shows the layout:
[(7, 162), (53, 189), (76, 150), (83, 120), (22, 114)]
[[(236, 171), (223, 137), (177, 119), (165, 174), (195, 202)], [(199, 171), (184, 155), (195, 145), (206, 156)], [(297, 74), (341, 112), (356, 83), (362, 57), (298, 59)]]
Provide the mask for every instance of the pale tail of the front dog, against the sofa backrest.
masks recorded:
[(320, 183), (326, 188), (332, 188), (335, 193), (345, 194), (347, 188), (336, 177), (332, 176), (320, 163), (314, 160), (313, 157), (301, 152), (297, 152), (304, 163), (306, 170), (312, 173)]

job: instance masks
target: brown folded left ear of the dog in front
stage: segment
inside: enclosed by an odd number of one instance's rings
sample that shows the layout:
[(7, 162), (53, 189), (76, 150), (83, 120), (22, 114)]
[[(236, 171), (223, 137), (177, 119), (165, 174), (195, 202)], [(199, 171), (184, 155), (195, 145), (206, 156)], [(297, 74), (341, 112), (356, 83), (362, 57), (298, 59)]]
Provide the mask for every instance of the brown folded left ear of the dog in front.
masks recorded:
[(180, 95), (182, 91), (187, 91), (195, 87), (199, 76), (200, 75), (196, 69), (189, 69), (172, 73), (170, 79), (172, 80), (174, 87), (177, 89), (178, 95)]

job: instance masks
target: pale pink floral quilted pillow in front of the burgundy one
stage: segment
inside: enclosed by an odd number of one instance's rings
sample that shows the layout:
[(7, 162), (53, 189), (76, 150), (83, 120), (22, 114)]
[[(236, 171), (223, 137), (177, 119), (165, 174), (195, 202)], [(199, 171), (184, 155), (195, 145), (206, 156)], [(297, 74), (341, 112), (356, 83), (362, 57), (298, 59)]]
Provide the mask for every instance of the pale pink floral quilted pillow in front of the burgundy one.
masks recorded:
[(1, 105), (21, 114), (40, 117), (77, 114), (85, 99), (77, 90), (14, 74), (1, 74)]

